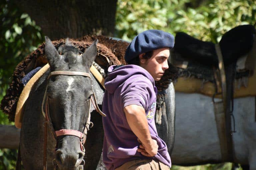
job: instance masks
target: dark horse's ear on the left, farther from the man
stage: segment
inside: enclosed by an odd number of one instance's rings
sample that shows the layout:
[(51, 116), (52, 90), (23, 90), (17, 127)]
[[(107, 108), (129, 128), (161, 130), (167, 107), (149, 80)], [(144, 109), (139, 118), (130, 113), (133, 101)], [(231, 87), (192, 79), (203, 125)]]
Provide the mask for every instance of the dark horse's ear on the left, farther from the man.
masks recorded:
[(54, 47), (54, 45), (52, 44), (51, 40), (45, 36), (45, 53), (48, 59), (48, 63), (50, 64), (50, 66), (53, 66), (55, 61), (59, 58), (59, 54), (58, 51), (56, 50), (56, 48)]

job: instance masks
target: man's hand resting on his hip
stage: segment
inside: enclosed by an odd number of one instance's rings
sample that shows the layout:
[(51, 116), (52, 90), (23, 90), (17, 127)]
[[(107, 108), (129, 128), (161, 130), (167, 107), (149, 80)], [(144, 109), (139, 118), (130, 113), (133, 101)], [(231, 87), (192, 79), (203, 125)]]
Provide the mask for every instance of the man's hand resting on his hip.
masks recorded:
[(139, 148), (137, 149), (144, 156), (153, 157), (157, 154), (158, 145), (156, 140), (152, 139), (152, 142), (147, 144), (142, 144), (140, 139), (138, 138), (138, 142), (141, 143)]

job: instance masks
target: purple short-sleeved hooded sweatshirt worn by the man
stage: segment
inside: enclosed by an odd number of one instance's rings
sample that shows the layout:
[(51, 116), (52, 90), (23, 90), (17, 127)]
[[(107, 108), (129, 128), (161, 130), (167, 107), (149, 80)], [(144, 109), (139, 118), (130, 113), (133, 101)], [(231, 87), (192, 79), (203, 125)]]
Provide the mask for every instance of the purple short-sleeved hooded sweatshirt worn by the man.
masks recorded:
[[(103, 97), (102, 118), (104, 128), (103, 162), (108, 170), (135, 159), (159, 160), (171, 167), (170, 155), (165, 142), (160, 139), (155, 126), (157, 88), (153, 77), (147, 70), (137, 65), (125, 65), (115, 69), (108, 68), (105, 80), (106, 91)], [(126, 120), (123, 108), (139, 105), (145, 109), (149, 132), (158, 144), (154, 157), (146, 157), (137, 151), (139, 142)]]

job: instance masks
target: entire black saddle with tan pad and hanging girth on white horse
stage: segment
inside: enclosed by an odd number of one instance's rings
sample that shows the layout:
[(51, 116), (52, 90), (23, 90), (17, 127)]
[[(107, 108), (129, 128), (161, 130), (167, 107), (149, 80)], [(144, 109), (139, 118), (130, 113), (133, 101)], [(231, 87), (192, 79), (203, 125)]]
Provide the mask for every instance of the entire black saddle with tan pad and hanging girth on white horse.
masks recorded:
[[(178, 33), (171, 60), (179, 68), (176, 91), (212, 97), (222, 160), (232, 162), (232, 133), (236, 132), (233, 99), (256, 96), (256, 75), (253, 74), (256, 62), (255, 28), (251, 25), (238, 26), (224, 34), (219, 44), (202, 42), (185, 33)], [(243, 87), (234, 88), (233, 84), (237, 81), (242, 81)], [(221, 100), (216, 102), (216, 97)]]

